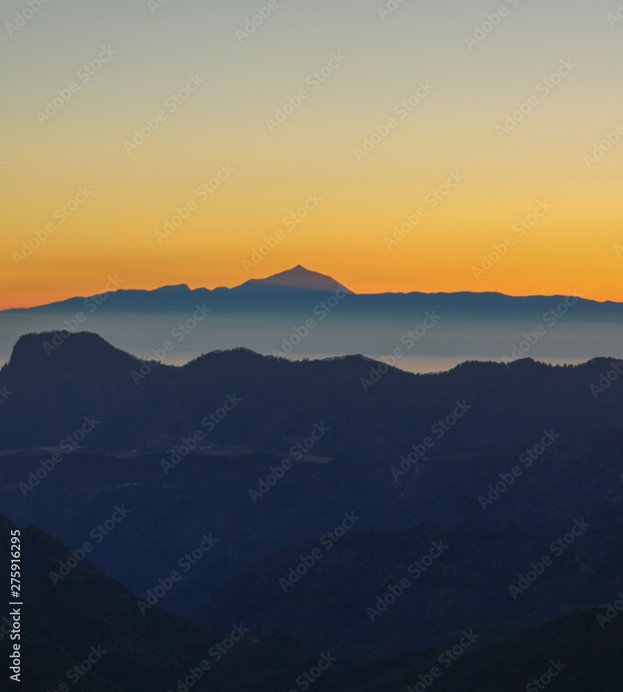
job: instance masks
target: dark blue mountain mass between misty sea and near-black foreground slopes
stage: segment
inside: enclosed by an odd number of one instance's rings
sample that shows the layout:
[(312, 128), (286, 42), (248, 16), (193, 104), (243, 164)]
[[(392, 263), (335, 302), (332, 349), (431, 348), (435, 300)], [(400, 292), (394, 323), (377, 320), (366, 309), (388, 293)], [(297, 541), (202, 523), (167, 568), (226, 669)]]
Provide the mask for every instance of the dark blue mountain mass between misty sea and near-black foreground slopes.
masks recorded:
[[(591, 392), (611, 359), (413, 375), (237, 349), (171, 367), (88, 333), (48, 355), (53, 336), (24, 336), (0, 370), (3, 511), (76, 547), (126, 503), (131, 520), (93, 561), (142, 596), (213, 532), (214, 559), (164, 608), (221, 628), (245, 617), (262, 639), (354, 660), (463, 627), (515, 635), (623, 587), (623, 388)], [(353, 512), (284, 594), (279, 580)], [(590, 529), (516, 603), (509, 584), (582, 520)], [(452, 549), (436, 571), (366, 621), (438, 540)]]

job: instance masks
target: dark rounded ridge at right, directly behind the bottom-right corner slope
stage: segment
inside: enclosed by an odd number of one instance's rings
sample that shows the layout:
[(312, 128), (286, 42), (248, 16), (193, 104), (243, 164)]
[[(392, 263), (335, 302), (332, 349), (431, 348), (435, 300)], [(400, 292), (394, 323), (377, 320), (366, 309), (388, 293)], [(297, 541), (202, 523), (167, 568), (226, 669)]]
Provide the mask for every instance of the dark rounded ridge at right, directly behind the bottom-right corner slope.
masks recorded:
[[(623, 522), (613, 511), (596, 515), (591, 499), (586, 505), (586, 536), (560, 556), (550, 543), (574, 527), (573, 516), (546, 518), (546, 530), (532, 522), (486, 527), (472, 521), (352, 534), (330, 549), (328, 541), (299, 545), (221, 584), (201, 619), (225, 623), (244, 613), (260, 637), (288, 633), (308, 649), (331, 648), (340, 657), (440, 647), (462, 628), (474, 628), (483, 641), (514, 635), (617, 593)], [(322, 557), (301, 576), (297, 567), (312, 565), (319, 547)], [(441, 553), (434, 561), (427, 558), (431, 549)], [(543, 554), (557, 559), (514, 599), (510, 585)], [(422, 558), (432, 564), (422, 569)], [(380, 601), (387, 594), (389, 605)]]

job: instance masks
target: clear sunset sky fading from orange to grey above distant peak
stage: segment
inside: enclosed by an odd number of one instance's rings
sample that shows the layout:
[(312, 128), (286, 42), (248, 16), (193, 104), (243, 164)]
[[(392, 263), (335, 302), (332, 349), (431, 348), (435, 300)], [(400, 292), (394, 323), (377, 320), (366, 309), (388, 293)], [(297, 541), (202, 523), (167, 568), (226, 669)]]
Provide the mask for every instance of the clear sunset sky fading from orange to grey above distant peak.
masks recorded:
[(623, 301), (620, 17), (7, 1), (0, 309), (297, 264), (357, 293)]

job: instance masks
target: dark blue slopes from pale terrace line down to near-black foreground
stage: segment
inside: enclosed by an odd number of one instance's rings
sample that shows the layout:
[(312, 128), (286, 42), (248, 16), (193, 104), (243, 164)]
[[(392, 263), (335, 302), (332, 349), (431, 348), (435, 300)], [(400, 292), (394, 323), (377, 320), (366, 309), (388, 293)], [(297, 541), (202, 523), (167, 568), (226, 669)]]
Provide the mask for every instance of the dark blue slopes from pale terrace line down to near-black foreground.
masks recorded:
[[(623, 426), (564, 437), (510, 488), (502, 485), (486, 510), (480, 496), (508, 478), (534, 439), (436, 455), (398, 482), (391, 459), (301, 459), (274, 486), (266, 479), (283, 455), (198, 450), (166, 473), (162, 461), (180, 441), (133, 439), (108, 452), (63, 455), (26, 496), (20, 484), (53, 451), (24, 450), (0, 457), (0, 505), (19, 525), (39, 525), (74, 547), (91, 540), (114, 507), (126, 507), (127, 520), (91, 560), (142, 597), (212, 534), (218, 543), (209, 559), (163, 608), (221, 628), (244, 619), (261, 639), (293, 636), (308, 653), (332, 648), (352, 659), (427, 648), (467, 626), (485, 639), (513, 635), (611, 601), (623, 588), (622, 443)], [(345, 513), (358, 517), (354, 527), (327, 548), (321, 537)], [(588, 530), (513, 599), (509, 585), (580, 520)], [(442, 558), (371, 622), (367, 608), (439, 541), (448, 546)], [(317, 565), (284, 592), (280, 580), (317, 548)]]

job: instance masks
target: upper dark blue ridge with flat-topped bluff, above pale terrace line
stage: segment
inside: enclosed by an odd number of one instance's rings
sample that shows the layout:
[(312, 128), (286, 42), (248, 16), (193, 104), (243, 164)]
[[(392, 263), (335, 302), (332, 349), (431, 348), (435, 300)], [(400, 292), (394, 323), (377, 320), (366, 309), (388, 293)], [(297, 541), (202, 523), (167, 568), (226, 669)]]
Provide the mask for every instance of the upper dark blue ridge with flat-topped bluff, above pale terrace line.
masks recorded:
[(89, 333), (22, 337), (0, 392), (4, 449), (59, 446), (90, 417), (91, 445), (201, 430), (221, 444), (288, 450), (322, 424), (314, 453), (398, 460), (428, 437), (436, 450), (466, 451), (623, 421), (623, 363), (612, 358), (413, 375), (362, 356), (292, 362), (237, 349), (170, 367)]

